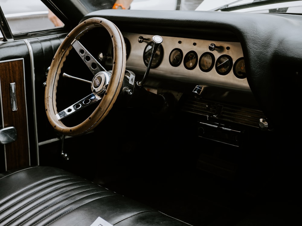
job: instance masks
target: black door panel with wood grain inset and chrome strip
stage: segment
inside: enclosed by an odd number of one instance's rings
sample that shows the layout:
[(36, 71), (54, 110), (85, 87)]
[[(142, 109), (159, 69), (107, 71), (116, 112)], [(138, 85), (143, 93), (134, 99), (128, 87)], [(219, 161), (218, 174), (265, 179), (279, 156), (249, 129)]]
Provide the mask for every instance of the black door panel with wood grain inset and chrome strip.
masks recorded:
[[(1, 128), (14, 126), (18, 135), (18, 139), (11, 144), (0, 144), (1, 172), (39, 165), (39, 142), (58, 137), (45, 114), (43, 82), (46, 81), (46, 70), (65, 36), (44, 36), (3, 42), (0, 45)], [(23, 85), (20, 86), (21, 81)], [(17, 111), (11, 110), (10, 88), (7, 87), (12, 82), (20, 89), (17, 94)], [(17, 116), (16, 113), (21, 115)]]

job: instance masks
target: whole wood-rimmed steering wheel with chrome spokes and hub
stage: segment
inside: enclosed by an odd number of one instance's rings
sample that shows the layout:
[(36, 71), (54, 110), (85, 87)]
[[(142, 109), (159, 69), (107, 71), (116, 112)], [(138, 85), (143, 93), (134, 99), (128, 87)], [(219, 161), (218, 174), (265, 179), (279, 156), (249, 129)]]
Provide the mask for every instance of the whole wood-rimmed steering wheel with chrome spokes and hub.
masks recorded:
[[(113, 44), (113, 64), (111, 73), (106, 71), (95, 57), (93, 57), (92, 54), (90, 54), (89, 51), (79, 42), (79, 39), (84, 36), (84, 34), (97, 27), (104, 28), (111, 36)], [(82, 58), (82, 61), (84, 62), (83, 65), (86, 64), (91, 71), (91, 77), (93, 78), (92, 81), (76, 78), (63, 72), (63, 64), (67, 60), (67, 56), (72, 48), (76, 50), (79, 57)], [(77, 65), (76, 67), (80, 67), (80, 65)], [(53, 128), (57, 132), (69, 136), (81, 135), (95, 128), (95, 126), (97, 126), (107, 116), (120, 93), (124, 79), (125, 67), (125, 42), (120, 30), (114, 25), (114, 23), (104, 18), (93, 17), (76, 26), (66, 36), (56, 51), (47, 76), (45, 88), (45, 111)], [(57, 96), (57, 86), (59, 79), (62, 77), (90, 82), (92, 93), (58, 112), (56, 101), (57, 99), (59, 100), (60, 97)], [(83, 122), (79, 122), (78, 125), (72, 125), (70, 127), (63, 124), (63, 118), (69, 117), (71, 114), (77, 113), (79, 110), (82, 110), (96, 102), (99, 102), (99, 104), (95, 110), (93, 110), (91, 115)]]

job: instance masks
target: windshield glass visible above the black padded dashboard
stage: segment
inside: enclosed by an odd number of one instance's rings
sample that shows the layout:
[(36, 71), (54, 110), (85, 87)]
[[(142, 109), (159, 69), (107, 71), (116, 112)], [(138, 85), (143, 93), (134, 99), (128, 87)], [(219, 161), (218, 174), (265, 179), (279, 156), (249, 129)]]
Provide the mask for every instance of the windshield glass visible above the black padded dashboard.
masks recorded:
[[(132, 10), (196, 10), (196, 11), (238, 11), (238, 12), (282, 12), (302, 13), (302, 0), (80, 0), (89, 2), (88, 11), (105, 9), (114, 2), (123, 3)], [(102, 2), (102, 1), (101, 1)], [(130, 2), (130, 3), (129, 3)], [(129, 6), (130, 5), (130, 6)], [(85, 5), (86, 7), (86, 5)], [(109, 7), (110, 8), (110, 7)]]

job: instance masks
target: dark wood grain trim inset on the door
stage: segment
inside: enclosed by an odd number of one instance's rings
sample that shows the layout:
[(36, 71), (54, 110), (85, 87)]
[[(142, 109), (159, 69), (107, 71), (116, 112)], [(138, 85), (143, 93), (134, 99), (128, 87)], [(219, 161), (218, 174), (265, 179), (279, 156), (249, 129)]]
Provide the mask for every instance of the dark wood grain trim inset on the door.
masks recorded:
[[(10, 84), (16, 84), (17, 110), (11, 107)], [(2, 128), (14, 126), (17, 140), (4, 144), (5, 168), (16, 169), (30, 166), (27, 104), (25, 91), (24, 59), (0, 61), (0, 91)]]

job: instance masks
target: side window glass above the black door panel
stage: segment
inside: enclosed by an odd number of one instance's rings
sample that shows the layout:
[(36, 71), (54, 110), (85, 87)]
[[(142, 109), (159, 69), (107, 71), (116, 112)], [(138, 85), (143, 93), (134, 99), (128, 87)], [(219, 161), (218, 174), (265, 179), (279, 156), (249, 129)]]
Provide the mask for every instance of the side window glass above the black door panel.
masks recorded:
[(13, 34), (55, 27), (40, 0), (0, 0), (0, 5)]

